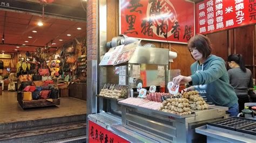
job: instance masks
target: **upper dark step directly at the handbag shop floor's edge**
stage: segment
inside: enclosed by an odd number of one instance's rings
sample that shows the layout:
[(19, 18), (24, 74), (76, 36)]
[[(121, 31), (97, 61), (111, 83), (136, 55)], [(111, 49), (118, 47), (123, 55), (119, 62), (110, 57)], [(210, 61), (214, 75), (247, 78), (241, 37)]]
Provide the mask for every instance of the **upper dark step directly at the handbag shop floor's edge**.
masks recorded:
[(0, 133), (23, 132), (29, 130), (37, 130), (41, 128), (51, 128), (58, 126), (65, 126), (70, 124), (86, 123), (86, 114), (56, 117), (48, 119), (17, 121), (14, 123), (0, 124)]

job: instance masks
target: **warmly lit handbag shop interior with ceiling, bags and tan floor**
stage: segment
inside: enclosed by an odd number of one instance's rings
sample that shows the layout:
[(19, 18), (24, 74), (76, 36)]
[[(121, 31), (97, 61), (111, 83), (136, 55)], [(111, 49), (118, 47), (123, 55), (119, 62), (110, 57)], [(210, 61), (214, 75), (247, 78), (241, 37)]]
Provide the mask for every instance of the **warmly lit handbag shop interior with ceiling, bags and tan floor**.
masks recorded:
[(0, 125), (85, 116), (86, 19), (50, 16), (46, 8), (70, 6), (86, 16), (86, 3), (24, 3), (45, 11), (0, 11)]

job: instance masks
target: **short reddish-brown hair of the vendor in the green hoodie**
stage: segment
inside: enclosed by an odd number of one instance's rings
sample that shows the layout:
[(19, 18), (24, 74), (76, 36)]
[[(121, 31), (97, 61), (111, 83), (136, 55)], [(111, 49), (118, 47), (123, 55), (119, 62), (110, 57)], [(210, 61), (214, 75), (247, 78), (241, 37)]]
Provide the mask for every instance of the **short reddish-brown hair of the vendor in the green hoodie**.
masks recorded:
[(188, 50), (190, 50), (190, 48), (196, 48), (201, 54), (203, 54), (205, 59), (207, 59), (207, 57), (212, 52), (212, 45), (210, 40), (202, 34), (197, 34), (192, 37), (190, 41), (188, 41), (187, 48)]

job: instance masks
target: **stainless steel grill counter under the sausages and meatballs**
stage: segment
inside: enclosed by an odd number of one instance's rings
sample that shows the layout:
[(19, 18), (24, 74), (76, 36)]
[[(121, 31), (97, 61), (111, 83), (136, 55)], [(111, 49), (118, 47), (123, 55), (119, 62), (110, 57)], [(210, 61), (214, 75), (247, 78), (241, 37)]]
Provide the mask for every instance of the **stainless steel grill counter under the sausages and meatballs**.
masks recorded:
[(194, 129), (206, 125), (208, 121), (223, 119), (228, 108), (211, 106), (208, 110), (193, 112), (191, 115), (179, 116), (122, 104), (122, 124), (124, 127), (144, 134), (146, 137), (159, 138), (160, 142), (203, 142), (206, 136), (197, 134)]

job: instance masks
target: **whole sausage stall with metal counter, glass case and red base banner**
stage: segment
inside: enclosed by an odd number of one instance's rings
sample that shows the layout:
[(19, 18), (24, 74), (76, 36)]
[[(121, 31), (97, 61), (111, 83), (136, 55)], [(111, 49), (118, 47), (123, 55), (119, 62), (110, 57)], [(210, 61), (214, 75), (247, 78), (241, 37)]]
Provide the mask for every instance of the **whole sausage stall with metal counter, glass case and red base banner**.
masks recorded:
[[(187, 115), (185, 115), (185, 109), (184, 114), (179, 114), (174, 110), (173, 112), (164, 111), (160, 98), (166, 95), (163, 92), (167, 92), (167, 83), (170, 81), (169, 50), (142, 47), (139, 46), (139, 42), (132, 45), (135, 46), (111, 49), (112, 55), (115, 53), (114, 55), (117, 56), (116, 61), (100, 63), (106, 68), (107, 83), (100, 85), (102, 88), (100, 94), (97, 95), (100, 113), (88, 116), (89, 141), (95, 141), (96, 136), (98, 139), (99, 132), (104, 137), (101, 138), (102, 140), (105, 140), (106, 136), (111, 136), (111, 139), (114, 140), (129, 142), (198, 142), (206, 140), (203, 135), (195, 133), (194, 129), (205, 125), (207, 121), (225, 118), (225, 111), (228, 109), (213, 105), (202, 110), (204, 108), (201, 104), (202, 108), (196, 107), (194, 108), (196, 110), (187, 112)], [(117, 51), (119, 51), (118, 54)], [(129, 54), (123, 56), (124, 53)], [(108, 55), (108, 59), (114, 59), (109, 52), (105, 55)], [(103, 59), (107, 59), (106, 56)], [(106, 63), (110, 63), (110, 65)], [(157, 88), (152, 93), (152, 97), (156, 99), (138, 98), (139, 83), (142, 84), (141, 88), (146, 90), (149, 90), (151, 85), (155, 85)], [(178, 98), (181, 99), (181, 96)], [(200, 98), (203, 101), (203, 98)], [(132, 99), (135, 101), (131, 102)], [(188, 99), (186, 99), (187, 103)], [(103, 103), (107, 106), (105, 111)], [(178, 106), (176, 108), (178, 109)], [(188, 110), (190, 109), (188, 108)]]

